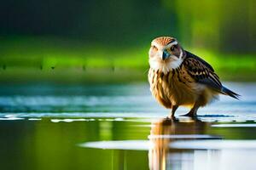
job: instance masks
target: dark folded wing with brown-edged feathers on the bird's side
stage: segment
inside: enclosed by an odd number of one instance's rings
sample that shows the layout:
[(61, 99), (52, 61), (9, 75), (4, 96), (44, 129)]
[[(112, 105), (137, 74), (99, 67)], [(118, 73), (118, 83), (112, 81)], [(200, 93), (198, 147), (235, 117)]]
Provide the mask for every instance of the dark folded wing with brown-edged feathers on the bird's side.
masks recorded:
[(186, 54), (183, 65), (188, 71), (189, 76), (195, 79), (195, 82), (205, 84), (222, 93), (222, 84), (219, 81), (218, 75), (214, 73), (212, 66), (195, 54), (187, 51)]

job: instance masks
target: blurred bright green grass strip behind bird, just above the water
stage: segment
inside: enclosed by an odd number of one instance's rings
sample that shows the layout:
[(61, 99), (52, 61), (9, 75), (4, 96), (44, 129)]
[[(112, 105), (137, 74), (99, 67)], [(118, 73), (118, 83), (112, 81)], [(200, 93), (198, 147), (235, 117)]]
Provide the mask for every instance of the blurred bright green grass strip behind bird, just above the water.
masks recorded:
[[(142, 82), (147, 80), (148, 48), (149, 42), (124, 48), (59, 37), (1, 37), (0, 81)], [(222, 80), (256, 80), (255, 54), (188, 50), (206, 59)]]

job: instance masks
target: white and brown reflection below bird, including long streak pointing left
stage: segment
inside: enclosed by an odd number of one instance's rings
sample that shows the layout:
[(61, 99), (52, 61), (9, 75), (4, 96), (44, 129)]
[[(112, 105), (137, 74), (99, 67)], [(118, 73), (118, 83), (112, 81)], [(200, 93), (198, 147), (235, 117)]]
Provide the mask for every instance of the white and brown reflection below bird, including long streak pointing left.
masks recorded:
[(104, 150), (148, 150), (148, 167), (152, 170), (256, 167), (255, 139), (225, 140), (220, 136), (202, 134), (207, 133), (211, 124), (197, 119), (190, 122), (163, 119), (152, 122), (150, 127), (149, 140), (95, 141), (79, 146)]

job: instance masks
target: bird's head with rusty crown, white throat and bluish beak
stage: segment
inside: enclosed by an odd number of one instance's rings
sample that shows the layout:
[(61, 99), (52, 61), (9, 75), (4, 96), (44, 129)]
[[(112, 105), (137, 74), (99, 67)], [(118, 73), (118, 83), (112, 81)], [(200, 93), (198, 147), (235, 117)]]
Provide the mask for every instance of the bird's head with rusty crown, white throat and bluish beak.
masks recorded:
[(182, 64), (185, 52), (173, 37), (157, 37), (151, 42), (148, 52), (149, 65), (164, 73)]

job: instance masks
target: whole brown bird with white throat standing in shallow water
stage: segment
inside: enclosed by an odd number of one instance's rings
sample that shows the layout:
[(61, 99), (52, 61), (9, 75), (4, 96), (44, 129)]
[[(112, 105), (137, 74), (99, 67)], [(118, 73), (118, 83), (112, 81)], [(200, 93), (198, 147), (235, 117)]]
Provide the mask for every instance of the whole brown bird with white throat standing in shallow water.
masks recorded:
[(174, 37), (156, 37), (148, 51), (148, 82), (151, 94), (175, 116), (179, 106), (189, 107), (183, 116), (197, 116), (197, 111), (218, 99), (218, 94), (239, 99), (225, 88), (212, 65), (184, 50)]

